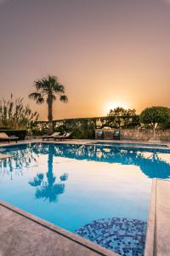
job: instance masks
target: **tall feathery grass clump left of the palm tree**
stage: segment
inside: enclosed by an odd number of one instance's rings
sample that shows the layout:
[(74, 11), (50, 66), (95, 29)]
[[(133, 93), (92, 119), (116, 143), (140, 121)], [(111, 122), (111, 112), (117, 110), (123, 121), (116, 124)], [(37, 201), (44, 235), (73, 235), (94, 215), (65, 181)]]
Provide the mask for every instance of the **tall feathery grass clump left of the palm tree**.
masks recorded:
[(14, 99), (11, 94), (8, 100), (0, 99), (0, 128), (23, 130), (29, 129), (32, 122), (37, 121), (38, 113), (32, 112), (24, 99)]

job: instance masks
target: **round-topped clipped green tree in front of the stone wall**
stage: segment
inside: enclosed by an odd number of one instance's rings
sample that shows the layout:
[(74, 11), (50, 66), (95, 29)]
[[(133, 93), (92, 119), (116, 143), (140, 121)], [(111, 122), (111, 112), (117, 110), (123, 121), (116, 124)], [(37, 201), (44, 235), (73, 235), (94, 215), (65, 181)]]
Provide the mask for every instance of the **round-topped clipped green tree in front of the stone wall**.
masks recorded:
[(166, 124), (170, 120), (170, 108), (151, 107), (145, 108), (140, 114), (140, 122), (151, 125), (153, 137), (156, 137), (156, 128), (161, 124)]

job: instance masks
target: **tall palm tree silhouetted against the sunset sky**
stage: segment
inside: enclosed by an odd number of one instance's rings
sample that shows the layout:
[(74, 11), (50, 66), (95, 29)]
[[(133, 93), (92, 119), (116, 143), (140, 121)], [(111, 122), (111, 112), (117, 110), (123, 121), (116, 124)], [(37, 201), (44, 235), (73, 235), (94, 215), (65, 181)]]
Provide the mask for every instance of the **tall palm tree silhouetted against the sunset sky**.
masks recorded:
[(32, 92), (29, 97), (37, 102), (43, 104), (46, 100), (48, 104), (48, 122), (49, 134), (53, 132), (53, 103), (59, 97), (60, 102), (68, 102), (65, 96), (65, 87), (59, 84), (57, 77), (48, 75), (45, 78), (34, 82), (36, 91)]

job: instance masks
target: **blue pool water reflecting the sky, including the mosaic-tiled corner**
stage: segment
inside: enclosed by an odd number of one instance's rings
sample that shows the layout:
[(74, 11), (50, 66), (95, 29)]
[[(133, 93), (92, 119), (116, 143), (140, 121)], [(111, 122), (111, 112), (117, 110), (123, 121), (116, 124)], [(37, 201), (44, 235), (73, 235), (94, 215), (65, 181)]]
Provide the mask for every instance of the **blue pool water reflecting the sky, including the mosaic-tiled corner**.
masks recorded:
[(143, 255), (153, 177), (167, 149), (33, 143), (0, 148), (0, 200), (122, 255)]

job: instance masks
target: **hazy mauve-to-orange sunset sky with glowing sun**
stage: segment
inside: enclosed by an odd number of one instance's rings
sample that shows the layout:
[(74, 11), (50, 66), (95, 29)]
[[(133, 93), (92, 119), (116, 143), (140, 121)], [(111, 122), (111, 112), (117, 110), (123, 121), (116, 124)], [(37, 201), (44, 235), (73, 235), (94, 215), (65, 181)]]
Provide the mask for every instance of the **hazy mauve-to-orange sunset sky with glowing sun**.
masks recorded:
[(0, 97), (28, 99), (52, 74), (54, 119), (170, 107), (170, 0), (0, 0)]

